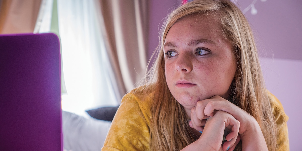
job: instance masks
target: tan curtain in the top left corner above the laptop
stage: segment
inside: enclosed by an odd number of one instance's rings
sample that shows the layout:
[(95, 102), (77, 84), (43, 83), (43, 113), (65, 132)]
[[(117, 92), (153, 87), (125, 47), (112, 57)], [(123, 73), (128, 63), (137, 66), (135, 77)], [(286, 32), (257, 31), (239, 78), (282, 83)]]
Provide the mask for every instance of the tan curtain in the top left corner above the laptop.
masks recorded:
[(33, 33), (41, 0), (0, 0), (0, 34)]

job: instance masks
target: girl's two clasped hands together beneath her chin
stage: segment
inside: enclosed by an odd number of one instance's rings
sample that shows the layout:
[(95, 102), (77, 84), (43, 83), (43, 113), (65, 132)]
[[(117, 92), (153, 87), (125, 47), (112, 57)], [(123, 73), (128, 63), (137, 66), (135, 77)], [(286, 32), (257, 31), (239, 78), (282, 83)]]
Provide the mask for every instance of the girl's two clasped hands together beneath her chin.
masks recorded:
[[(203, 150), (232, 151), (240, 140), (243, 149), (253, 150), (253, 143), (259, 143), (257, 141), (261, 143), (259, 147), (263, 147), (263, 134), (255, 118), (219, 95), (198, 101), (191, 109), (189, 125), (202, 132), (194, 144), (201, 144)], [(223, 143), (224, 136), (226, 141)], [(253, 137), (257, 137), (256, 142)], [(252, 141), (250, 145), (249, 141)]]

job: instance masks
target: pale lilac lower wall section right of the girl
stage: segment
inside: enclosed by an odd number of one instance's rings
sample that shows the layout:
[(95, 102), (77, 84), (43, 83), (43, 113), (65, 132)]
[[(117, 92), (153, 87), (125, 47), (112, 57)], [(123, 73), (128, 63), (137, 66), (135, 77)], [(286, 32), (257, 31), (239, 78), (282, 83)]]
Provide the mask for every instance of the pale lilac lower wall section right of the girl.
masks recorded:
[(282, 103), (288, 115), (288, 136), (291, 150), (302, 150), (302, 61), (260, 58), (267, 89)]

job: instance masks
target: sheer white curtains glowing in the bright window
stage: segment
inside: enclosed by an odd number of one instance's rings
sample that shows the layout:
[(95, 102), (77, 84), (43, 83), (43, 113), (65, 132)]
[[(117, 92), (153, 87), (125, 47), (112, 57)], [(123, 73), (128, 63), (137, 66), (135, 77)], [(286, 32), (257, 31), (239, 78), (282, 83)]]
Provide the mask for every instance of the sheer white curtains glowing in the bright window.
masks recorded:
[[(43, 0), (40, 21), (35, 30), (49, 32), (57, 3), (59, 36), (63, 56), (63, 73), (67, 94), (62, 95), (62, 109), (79, 115), (101, 106), (116, 106), (121, 98), (114, 91), (113, 75), (95, 2), (93, 0)], [(42, 6), (44, 5), (44, 6)], [(44, 16), (44, 17), (42, 17)], [(39, 20), (38, 17), (38, 20)], [(46, 28), (45, 28), (46, 27)]]

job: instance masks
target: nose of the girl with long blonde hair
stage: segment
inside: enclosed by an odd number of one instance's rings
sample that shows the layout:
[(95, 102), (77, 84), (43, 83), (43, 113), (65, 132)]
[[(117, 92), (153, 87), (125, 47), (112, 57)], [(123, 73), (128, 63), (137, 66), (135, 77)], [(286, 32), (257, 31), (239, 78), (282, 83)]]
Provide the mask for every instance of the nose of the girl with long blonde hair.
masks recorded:
[(176, 59), (175, 68), (178, 72), (190, 73), (193, 70), (192, 58), (190, 55), (179, 54)]

